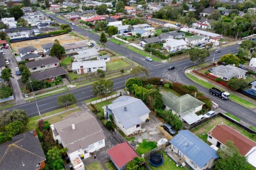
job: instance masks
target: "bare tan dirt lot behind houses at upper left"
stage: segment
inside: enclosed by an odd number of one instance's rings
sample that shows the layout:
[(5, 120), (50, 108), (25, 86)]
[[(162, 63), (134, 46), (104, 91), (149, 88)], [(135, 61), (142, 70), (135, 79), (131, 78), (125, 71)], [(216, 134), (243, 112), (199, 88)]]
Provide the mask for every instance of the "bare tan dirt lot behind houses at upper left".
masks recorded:
[(76, 38), (75, 36), (71, 36), (70, 34), (63, 34), (60, 36), (48, 37), (48, 38), (43, 38), (43, 39), (38, 39), (38, 40), (13, 42), (13, 43), (11, 43), (11, 46), (15, 51), (18, 51), (18, 49), (24, 48), (27, 46), (34, 46), (35, 48), (37, 48), (38, 51), (41, 51), (41, 50), (43, 50), (41, 48), (42, 44), (54, 42), (55, 39), (58, 39), (60, 44), (80, 41), (80, 39)]

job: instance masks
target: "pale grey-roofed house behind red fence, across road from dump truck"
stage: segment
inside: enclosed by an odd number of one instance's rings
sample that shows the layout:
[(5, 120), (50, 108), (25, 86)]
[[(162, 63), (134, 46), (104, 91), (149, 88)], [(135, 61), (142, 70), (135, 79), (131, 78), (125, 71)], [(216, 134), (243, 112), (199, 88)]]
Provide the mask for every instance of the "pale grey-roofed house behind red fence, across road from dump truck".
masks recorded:
[(234, 67), (232, 65), (219, 65), (212, 68), (210, 74), (222, 78), (223, 80), (229, 81), (231, 78), (235, 77), (237, 79), (244, 78), (246, 76), (247, 70)]

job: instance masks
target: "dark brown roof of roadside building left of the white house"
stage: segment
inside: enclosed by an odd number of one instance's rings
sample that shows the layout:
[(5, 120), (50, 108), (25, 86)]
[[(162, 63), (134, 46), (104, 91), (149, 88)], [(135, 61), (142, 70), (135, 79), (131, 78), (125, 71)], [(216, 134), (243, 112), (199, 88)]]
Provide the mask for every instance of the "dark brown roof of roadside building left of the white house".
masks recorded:
[(51, 77), (61, 76), (64, 74), (68, 74), (68, 72), (63, 67), (57, 67), (57, 68), (33, 73), (31, 74), (31, 78), (37, 79), (37, 80), (44, 80)]

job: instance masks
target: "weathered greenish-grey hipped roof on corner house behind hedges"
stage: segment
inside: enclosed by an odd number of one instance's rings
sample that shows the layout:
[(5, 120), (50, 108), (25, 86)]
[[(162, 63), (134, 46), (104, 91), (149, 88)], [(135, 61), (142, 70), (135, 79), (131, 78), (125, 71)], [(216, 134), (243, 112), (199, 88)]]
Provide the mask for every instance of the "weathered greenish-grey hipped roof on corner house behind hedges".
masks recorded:
[(160, 93), (162, 95), (164, 105), (168, 106), (180, 116), (186, 116), (193, 112), (195, 108), (204, 105), (204, 102), (201, 102), (189, 94), (177, 97), (171, 92)]

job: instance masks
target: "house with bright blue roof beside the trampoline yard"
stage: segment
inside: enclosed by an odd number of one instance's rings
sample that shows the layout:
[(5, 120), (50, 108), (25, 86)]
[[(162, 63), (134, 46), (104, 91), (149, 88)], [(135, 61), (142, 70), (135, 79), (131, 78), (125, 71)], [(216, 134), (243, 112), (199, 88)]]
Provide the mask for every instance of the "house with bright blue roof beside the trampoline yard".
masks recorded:
[(219, 157), (216, 150), (189, 130), (180, 130), (169, 142), (171, 149), (184, 157), (186, 164), (194, 170), (212, 168), (214, 160)]

